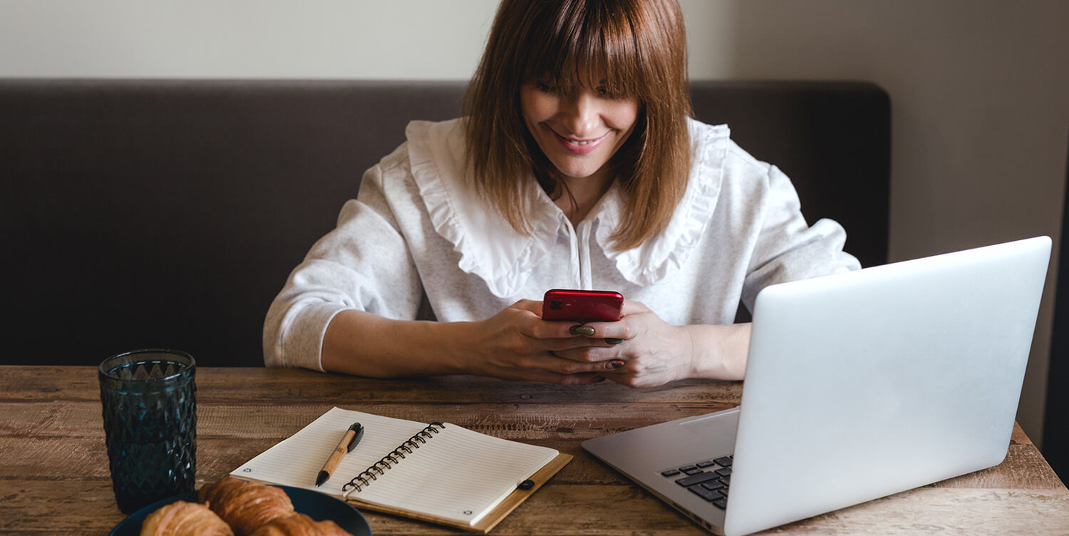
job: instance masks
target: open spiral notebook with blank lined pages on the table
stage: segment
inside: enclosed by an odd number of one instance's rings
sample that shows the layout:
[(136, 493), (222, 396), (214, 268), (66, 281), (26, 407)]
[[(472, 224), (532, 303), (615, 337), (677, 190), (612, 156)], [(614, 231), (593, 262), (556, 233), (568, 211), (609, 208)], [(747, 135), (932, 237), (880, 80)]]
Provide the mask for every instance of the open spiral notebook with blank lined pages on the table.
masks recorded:
[[(316, 488), (315, 476), (353, 423), (363, 425), (362, 440), (330, 479)], [(231, 475), (320, 491), (358, 508), (485, 533), (571, 459), (553, 448), (449, 423), (417, 423), (332, 408)]]

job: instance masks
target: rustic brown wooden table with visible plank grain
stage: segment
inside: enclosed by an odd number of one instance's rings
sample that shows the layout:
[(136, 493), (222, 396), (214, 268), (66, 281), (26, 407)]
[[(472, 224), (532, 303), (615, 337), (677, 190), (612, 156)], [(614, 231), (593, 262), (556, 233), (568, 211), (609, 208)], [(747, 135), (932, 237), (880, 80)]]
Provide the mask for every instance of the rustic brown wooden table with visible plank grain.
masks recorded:
[[(589, 438), (737, 405), (742, 385), (631, 389), (470, 377), (369, 380), (307, 370), (197, 371), (198, 486), (339, 405), (448, 420), (575, 456), (491, 534), (708, 534), (587, 455)], [(104, 535), (123, 515), (108, 474), (95, 367), (0, 367), (0, 534)], [(450, 529), (365, 512), (374, 534)], [(793, 523), (787, 534), (1069, 534), (1069, 491), (1020, 428), (1001, 465)]]

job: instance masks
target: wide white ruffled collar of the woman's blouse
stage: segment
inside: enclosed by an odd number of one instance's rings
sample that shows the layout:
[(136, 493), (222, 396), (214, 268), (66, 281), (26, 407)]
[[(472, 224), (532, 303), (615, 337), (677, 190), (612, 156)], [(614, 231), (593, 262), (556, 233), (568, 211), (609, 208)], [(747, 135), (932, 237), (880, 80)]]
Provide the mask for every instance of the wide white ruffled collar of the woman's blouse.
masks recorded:
[[(486, 281), (499, 297), (516, 296), (531, 270), (558, 240), (568, 218), (538, 186), (525, 181), (525, 211), (532, 233), (516, 232), (501, 214), (486, 206), (464, 174), (462, 120), (413, 121), (405, 129), (408, 157), (420, 196), (435, 231), (461, 255), (460, 269)], [(722, 164), (729, 131), (690, 120), (694, 164), (683, 199), (668, 226), (640, 246), (611, 248), (609, 238), (622, 217), (623, 193), (614, 184), (588, 218), (597, 220), (595, 239), (605, 256), (629, 281), (645, 287), (679, 270), (708, 226), (719, 195)]]

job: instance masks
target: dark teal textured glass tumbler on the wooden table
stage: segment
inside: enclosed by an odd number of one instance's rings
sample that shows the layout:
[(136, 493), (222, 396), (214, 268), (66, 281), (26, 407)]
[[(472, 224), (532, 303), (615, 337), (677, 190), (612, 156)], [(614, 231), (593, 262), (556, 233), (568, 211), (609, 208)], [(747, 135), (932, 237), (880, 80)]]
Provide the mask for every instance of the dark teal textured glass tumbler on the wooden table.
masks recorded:
[(123, 514), (195, 489), (196, 367), (177, 350), (137, 350), (100, 364), (111, 486)]

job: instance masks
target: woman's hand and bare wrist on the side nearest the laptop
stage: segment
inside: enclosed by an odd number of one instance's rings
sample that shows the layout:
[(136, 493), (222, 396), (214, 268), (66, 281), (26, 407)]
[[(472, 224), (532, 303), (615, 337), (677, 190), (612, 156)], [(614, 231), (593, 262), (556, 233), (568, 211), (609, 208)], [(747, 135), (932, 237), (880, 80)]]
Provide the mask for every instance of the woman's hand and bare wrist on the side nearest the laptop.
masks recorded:
[(631, 387), (686, 378), (741, 380), (750, 324), (675, 326), (638, 302), (623, 303), (617, 322), (591, 322), (591, 344), (556, 352), (577, 363), (607, 367), (604, 376)]

